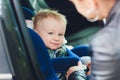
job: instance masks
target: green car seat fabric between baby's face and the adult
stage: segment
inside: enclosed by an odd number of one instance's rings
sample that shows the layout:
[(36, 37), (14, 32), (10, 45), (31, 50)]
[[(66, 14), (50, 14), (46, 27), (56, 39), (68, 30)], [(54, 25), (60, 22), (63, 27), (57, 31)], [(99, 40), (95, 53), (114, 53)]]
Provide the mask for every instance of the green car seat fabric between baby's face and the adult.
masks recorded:
[(102, 27), (89, 27), (73, 35), (66, 36), (66, 39), (68, 40), (67, 45), (72, 45), (73, 47), (78, 45), (88, 45), (94, 34), (101, 28)]

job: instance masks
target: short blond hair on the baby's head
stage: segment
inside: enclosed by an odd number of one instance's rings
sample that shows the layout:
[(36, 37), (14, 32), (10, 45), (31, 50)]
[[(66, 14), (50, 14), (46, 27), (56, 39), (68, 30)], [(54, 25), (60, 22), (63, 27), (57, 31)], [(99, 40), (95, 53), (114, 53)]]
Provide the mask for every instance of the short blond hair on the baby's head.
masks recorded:
[(43, 20), (47, 17), (53, 17), (67, 25), (66, 17), (63, 14), (59, 13), (57, 10), (43, 9), (33, 17), (33, 28), (36, 29), (39, 20)]

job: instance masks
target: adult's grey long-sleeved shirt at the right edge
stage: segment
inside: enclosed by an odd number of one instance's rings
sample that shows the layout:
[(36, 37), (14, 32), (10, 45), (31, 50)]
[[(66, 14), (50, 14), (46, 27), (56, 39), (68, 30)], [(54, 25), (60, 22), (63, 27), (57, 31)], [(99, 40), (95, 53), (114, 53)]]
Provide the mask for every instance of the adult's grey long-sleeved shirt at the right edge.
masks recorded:
[(105, 27), (91, 40), (91, 80), (120, 80), (120, 0), (116, 0)]

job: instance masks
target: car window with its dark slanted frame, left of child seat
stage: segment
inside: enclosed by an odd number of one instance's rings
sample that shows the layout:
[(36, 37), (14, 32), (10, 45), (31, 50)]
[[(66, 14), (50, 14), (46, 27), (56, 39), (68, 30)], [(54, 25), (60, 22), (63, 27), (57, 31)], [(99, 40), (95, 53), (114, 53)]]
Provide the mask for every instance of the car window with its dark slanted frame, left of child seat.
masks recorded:
[(24, 21), (19, 0), (0, 0), (0, 54), (5, 59), (0, 73), (10, 73), (12, 80), (43, 80)]

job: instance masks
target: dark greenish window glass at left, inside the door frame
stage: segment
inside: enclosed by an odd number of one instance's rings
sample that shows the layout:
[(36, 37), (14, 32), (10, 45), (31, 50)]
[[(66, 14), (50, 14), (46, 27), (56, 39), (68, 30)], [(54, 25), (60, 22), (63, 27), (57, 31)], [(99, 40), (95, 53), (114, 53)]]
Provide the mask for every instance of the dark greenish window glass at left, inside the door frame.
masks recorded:
[(17, 7), (13, 3), (15, 1), (17, 2), (18, 0), (0, 0), (1, 27), (4, 32), (8, 53), (12, 62), (12, 65), (9, 67), (13, 68), (11, 72), (15, 80), (37, 80), (35, 69), (28, 56), (30, 49), (27, 49), (27, 43), (23, 37), (26, 36), (26, 38), (29, 38), (27, 37), (29, 35), (24, 35), (25, 30), (22, 30), (23, 27), (18, 19), (18, 14), (15, 12), (15, 8)]

